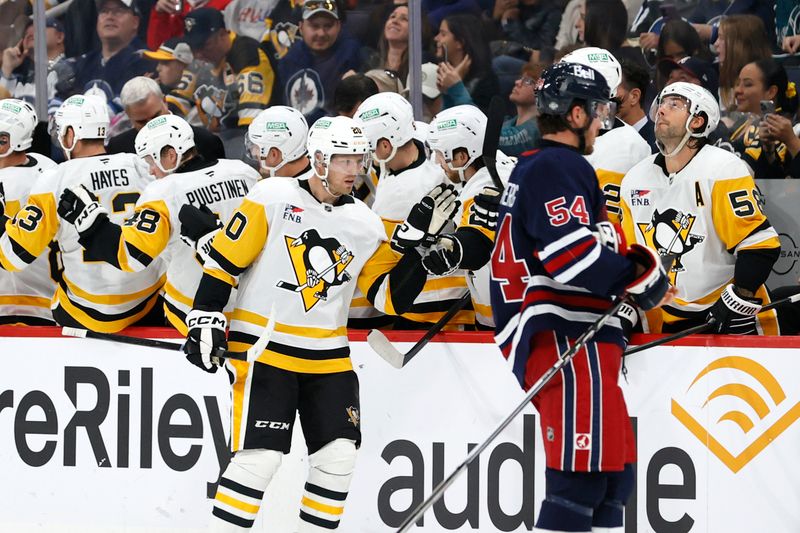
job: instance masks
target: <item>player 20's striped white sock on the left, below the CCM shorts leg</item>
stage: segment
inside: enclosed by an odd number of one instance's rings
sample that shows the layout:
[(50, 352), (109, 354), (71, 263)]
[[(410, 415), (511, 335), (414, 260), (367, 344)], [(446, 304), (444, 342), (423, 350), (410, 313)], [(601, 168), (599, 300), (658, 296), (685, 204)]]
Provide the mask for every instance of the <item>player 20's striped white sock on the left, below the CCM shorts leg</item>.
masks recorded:
[(248, 531), (253, 527), (264, 491), (281, 464), (281, 452), (240, 450), (219, 480), (210, 530), (215, 533)]

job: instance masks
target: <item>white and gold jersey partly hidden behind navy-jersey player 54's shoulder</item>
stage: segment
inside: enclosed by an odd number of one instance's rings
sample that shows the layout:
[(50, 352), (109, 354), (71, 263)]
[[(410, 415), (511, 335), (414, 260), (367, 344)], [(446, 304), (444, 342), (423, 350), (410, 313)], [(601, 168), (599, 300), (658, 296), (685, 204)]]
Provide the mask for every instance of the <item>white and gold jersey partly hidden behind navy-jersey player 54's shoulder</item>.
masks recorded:
[(619, 184), (639, 161), (651, 154), (636, 128), (616, 119), (614, 128), (594, 140), (594, 150), (586, 159), (597, 172), (600, 190), (606, 197), (608, 220), (619, 224)]

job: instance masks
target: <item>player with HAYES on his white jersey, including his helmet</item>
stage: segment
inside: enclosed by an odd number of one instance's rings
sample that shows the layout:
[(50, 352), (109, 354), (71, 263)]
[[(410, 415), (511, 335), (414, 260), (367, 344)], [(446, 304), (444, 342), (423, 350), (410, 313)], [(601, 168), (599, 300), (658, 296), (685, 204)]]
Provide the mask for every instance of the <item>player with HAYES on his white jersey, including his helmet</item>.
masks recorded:
[[(51, 275), (58, 283), (51, 305), (55, 321), (113, 333), (155, 306), (164, 284), (164, 265), (153, 261), (141, 272), (122, 272), (84, 250), (75, 227), (62, 224), (58, 217), (62, 192), (83, 185), (98, 198), (97, 207), (121, 223), (153, 181), (147, 165), (135, 155), (105, 153), (107, 109), (102, 98), (75, 95), (56, 111), (55, 133), (67, 161), (44, 172), (26, 205), (0, 228), (0, 267), (23, 270), (49, 249)], [(91, 218), (92, 213), (86, 215)]]

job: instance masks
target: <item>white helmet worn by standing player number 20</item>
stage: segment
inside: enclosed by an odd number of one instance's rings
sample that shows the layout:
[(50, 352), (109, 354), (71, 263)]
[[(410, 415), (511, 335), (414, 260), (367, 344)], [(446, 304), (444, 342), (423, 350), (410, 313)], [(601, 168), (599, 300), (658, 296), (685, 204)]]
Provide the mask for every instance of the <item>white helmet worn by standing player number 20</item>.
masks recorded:
[[(308, 157), (314, 172), (331, 194), (328, 187), (328, 168), (334, 155), (361, 155), (362, 168), (366, 170), (369, 158), (369, 141), (361, 126), (349, 117), (322, 117), (308, 130)], [(319, 175), (317, 165), (322, 165), (324, 175)]]

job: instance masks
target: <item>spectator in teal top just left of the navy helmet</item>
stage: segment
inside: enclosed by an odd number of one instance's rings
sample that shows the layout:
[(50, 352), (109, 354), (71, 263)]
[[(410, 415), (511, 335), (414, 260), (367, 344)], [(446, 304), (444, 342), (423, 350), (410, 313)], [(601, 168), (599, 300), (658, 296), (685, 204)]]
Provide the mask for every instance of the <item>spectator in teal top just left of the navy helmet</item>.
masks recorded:
[(536, 125), (536, 82), (544, 67), (538, 63), (527, 63), (509, 95), (509, 101), (517, 107), (517, 114), (505, 122), (500, 130), (498, 148), (506, 155), (519, 156), (522, 152), (539, 146), (541, 134)]

